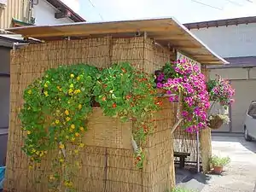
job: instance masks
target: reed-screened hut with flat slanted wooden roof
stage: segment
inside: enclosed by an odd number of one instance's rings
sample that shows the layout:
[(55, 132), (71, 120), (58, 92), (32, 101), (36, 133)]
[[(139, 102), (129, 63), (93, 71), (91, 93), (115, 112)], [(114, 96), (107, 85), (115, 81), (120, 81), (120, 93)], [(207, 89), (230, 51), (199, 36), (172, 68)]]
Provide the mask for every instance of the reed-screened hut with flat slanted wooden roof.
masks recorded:
[[(42, 41), (14, 49), (11, 53), (5, 182), (9, 191), (47, 191), (47, 182), (42, 178), (41, 183), (35, 183), (34, 177), (38, 172), (47, 174), (49, 164), (45, 162), (40, 170), (28, 169), (26, 154), (21, 151), (18, 118), (23, 91), (45, 70), (76, 63), (104, 68), (129, 61), (146, 73), (154, 73), (167, 61), (187, 58), (200, 65), (207, 74), (207, 65), (226, 63), (172, 18), (23, 26), (10, 28), (9, 32)], [(157, 131), (144, 146), (146, 161), (143, 169), (134, 165), (132, 124), (103, 116), (101, 108), (94, 109), (88, 122), (89, 131), (84, 137), (83, 165), (76, 177), (79, 192), (164, 192), (172, 189), (175, 185), (174, 151), (189, 153), (191, 162), (202, 161), (204, 170), (207, 169), (211, 155), (210, 131), (201, 131), (198, 136), (190, 136), (178, 128), (172, 132), (177, 122), (177, 106), (166, 98), (163, 102), (163, 109), (155, 115), (165, 118), (157, 122)], [(196, 141), (200, 141), (201, 146)]]

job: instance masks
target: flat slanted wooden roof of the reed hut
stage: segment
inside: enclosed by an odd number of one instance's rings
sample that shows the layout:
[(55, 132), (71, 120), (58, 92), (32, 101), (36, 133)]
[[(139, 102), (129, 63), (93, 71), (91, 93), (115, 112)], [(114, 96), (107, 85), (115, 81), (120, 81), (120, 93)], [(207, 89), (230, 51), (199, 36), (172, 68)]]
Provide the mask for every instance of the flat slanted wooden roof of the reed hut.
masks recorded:
[(201, 64), (226, 64), (189, 30), (172, 18), (152, 20), (125, 20), (96, 23), (71, 23), (50, 26), (20, 26), (7, 29), (27, 38), (60, 40), (63, 38), (97, 38), (111, 35), (113, 38), (129, 38), (146, 32), (148, 38), (167, 48), (177, 49)]

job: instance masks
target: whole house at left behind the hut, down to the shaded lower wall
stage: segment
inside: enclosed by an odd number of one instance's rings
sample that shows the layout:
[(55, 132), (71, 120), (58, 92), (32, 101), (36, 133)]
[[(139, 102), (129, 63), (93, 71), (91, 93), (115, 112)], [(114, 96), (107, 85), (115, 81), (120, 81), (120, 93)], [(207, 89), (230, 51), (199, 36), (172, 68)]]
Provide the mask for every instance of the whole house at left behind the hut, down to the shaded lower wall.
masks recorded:
[[(26, 44), (21, 35), (4, 29), (13, 26), (49, 25), (85, 21), (61, 0), (0, 0), (0, 166), (6, 154), (9, 127), (9, 63), (14, 43)], [(29, 39), (34, 43), (36, 40)]]

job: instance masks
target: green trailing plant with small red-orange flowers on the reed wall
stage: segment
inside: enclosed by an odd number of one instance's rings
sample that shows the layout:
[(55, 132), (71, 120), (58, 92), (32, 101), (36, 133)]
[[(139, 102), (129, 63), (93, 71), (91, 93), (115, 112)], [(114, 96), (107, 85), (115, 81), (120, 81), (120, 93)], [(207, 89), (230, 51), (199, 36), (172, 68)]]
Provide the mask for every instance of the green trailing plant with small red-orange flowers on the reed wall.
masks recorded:
[[(136, 70), (129, 63), (115, 64), (102, 70), (98, 76), (94, 95), (105, 115), (133, 120), (133, 137), (142, 146), (153, 131), (152, 114), (160, 107), (155, 98), (154, 76)], [(136, 164), (143, 167), (142, 148), (137, 151)]]

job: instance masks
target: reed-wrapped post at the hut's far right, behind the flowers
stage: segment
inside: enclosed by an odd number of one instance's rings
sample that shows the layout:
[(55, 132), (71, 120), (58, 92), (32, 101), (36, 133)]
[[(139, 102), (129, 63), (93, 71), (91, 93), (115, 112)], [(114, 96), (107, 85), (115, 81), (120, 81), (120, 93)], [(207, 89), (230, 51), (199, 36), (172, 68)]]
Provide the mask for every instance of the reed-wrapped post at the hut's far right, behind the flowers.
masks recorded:
[[(206, 76), (208, 80), (209, 74), (206, 65), (201, 66), (201, 72)], [(207, 127), (205, 130), (200, 131), (200, 150), (201, 150), (201, 160), (202, 160), (202, 170), (203, 173), (210, 171), (210, 159), (212, 157), (212, 137), (211, 129)]]

